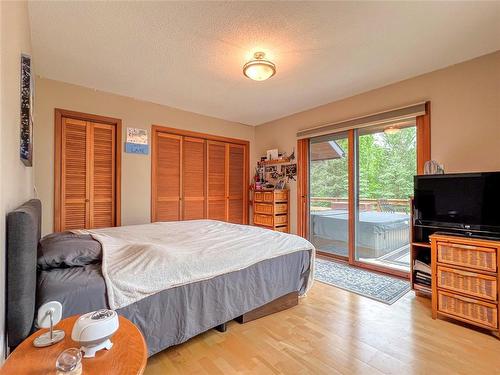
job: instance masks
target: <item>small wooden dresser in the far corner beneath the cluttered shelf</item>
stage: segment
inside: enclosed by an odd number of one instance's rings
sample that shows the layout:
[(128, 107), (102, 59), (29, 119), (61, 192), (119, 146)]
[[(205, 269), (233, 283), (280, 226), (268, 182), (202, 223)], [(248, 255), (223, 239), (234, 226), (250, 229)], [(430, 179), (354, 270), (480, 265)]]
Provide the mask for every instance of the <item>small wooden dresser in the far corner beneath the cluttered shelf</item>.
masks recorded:
[(288, 233), (290, 231), (289, 212), (289, 190), (254, 192), (254, 225)]

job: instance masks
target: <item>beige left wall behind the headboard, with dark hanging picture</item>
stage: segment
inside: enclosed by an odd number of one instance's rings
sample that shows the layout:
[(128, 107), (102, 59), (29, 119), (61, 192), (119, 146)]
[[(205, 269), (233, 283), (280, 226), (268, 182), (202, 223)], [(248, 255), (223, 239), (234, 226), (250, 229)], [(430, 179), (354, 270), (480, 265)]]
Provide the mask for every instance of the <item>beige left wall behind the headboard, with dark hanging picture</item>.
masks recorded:
[(0, 2), (1, 126), (0, 126), (0, 362), (3, 361), (5, 319), (5, 215), (33, 196), (33, 169), (19, 159), (20, 57), (31, 53), (26, 2)]

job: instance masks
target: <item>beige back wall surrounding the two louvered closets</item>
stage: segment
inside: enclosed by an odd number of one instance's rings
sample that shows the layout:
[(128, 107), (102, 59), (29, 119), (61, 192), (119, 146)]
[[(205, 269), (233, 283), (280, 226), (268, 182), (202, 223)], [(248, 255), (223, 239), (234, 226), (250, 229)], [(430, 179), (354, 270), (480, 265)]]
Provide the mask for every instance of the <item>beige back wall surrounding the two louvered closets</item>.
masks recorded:
[[(43, 203), (44, 234), (51, 232), (53, 228), (54, 108), (119, 118), (122, 120), (123, 141), (127, 127), (144, 128), (149, 131), (151, 125), (156, 124), (245, 139), (251, 142), (250, 155), (253, 155), (255, 131), (251, 126), (38, 78), (36, 80), (34, 160), (35, 185)], [(150, 222), (150, 155), (122, 152), (123, 225)]]

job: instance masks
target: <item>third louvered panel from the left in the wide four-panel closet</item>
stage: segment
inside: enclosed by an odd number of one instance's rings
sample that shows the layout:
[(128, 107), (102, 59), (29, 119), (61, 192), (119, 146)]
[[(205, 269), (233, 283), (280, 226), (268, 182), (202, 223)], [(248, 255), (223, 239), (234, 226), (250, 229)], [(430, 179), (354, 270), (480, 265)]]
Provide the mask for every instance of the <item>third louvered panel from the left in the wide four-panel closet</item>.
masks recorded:
[(227, 220), (226, 144), (207, 141), (207, 218)]

